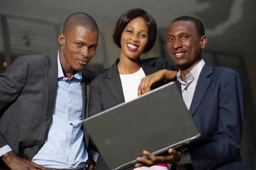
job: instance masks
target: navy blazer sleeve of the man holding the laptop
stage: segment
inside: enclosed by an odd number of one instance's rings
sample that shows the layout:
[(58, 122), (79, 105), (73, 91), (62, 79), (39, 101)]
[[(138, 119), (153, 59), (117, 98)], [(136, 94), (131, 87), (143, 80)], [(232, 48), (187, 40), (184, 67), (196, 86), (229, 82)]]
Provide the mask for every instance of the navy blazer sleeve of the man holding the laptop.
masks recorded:
[(241, 76), (229, 74), (219, 90), (218, 127), (204, 144), (190, 148), (195, 170), (212, 169), (232, 161), (240, 150), (244, 118)]

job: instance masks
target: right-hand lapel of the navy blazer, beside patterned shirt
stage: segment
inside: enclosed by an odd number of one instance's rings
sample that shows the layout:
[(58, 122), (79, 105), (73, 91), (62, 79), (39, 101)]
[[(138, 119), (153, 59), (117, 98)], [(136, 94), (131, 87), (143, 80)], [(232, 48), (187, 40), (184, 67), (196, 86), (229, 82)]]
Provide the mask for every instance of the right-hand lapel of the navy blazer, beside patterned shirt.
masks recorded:
[(200, 105), (204, 94), (207, 90), (207, 88), (209, 87), (209, 84), (211, 82), (210, 78), (207, 78), (210, 74), (212, 74), (212, 67), (207, 65), (205, 63), (201, 74), (198, 78), (198, 82), (195, 88), (195, 93), (192, 99), (192, 103), (190, 105), (189, 108), (189, 113), (191, 114), (191, 116), (193, 116), (195, 114), (195, 111), (197, 110), (198, 106)]

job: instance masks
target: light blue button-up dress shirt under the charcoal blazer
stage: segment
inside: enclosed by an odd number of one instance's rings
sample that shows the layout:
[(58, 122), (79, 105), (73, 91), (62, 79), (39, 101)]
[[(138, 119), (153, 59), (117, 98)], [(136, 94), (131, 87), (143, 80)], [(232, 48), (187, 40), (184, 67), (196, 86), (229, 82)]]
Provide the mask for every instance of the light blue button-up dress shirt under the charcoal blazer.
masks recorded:
[[(51, 168), (83, 167), (88, 159), (84, 147), (82, 126), (81, 71), (70, 79), (64, 77), (58, 55), (58, 86), (52, 122), (44, 145), (32, 158), (36, 164)], [(0, 148), (0, 156), (11, 151), (6, 145)], [(98, 153), (89, 154), (98, 158)]]

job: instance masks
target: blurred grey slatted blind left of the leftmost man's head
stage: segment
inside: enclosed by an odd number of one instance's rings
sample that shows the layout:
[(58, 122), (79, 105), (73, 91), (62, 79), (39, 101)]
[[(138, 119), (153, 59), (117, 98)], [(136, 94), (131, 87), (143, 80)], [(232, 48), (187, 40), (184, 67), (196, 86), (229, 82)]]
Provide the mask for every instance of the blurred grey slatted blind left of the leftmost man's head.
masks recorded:
[(20, 55), (51, 54), (58, 49), (55, 25), (51, 22), (6, 16), (12, 61)]

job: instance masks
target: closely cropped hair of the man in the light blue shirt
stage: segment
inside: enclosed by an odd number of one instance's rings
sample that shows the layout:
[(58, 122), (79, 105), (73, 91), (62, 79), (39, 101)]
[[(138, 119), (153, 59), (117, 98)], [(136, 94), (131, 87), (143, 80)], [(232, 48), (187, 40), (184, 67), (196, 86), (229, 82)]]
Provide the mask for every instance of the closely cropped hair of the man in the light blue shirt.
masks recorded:
[(65, 20), (62, 34), (68, 35), (76, 26), (82, 26), (89, 30), (99, 31), (98, 25), (92, 16), (84, 12), (76, 12), (68, 16)]

